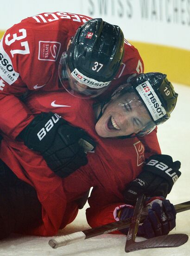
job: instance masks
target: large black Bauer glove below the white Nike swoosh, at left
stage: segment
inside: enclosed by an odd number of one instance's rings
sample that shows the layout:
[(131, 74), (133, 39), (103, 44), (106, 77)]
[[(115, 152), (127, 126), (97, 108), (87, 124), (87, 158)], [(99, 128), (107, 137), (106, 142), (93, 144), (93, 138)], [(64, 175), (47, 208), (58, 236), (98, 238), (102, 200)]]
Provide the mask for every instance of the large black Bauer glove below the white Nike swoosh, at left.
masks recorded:
[(63, 178), (86, 165), (86, 152), (95, 149), (95, 141), (84, 130), (52, 112), (37, 115), (19, 137), (28, 148), (41, 152), (51, 170)]

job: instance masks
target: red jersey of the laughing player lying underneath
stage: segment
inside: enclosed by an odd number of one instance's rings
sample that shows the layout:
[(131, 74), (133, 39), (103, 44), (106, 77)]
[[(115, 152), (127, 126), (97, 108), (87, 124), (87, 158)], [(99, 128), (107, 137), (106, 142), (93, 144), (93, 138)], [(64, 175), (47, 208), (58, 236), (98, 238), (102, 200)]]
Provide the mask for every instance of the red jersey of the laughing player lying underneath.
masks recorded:
[(31, 184), (42, 204), (43, 224), (28, 234), (52, 236), (74, 220), (79, 199), (93, 187), (87, 209), (90, 226), (114, 222), (114, 208), (124, 204), (122, 191), (142, 170), (145, 158), (160, 154), (156, 130), (128, 139), (101, 138), (95, 132), (93, 100), (82, 100), (67, 92), (38, 92), (25, 103), (32, 115), (55, 112), (76, 127), (83, 128), (97, 143), (88, 153), (88, 164), (62, 179), (56, 176), (42, 156), (23, 142), (7, 138), (0, 145), (0, 157), (23, 181)]

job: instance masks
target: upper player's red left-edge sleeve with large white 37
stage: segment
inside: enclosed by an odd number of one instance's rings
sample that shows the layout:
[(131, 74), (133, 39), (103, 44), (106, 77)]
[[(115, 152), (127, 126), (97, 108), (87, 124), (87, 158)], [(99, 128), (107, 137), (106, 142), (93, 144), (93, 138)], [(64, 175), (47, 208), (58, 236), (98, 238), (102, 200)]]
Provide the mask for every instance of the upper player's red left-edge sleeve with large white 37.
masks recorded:
[[(29, 43), (30, 41), (30, 43)], [(32, 54), (32, 39), (21, 23), (8, 29), (0, 41), (0, 130), (15, 138), (33, 116), (19, 100), (27, 86), (21, 77)]]

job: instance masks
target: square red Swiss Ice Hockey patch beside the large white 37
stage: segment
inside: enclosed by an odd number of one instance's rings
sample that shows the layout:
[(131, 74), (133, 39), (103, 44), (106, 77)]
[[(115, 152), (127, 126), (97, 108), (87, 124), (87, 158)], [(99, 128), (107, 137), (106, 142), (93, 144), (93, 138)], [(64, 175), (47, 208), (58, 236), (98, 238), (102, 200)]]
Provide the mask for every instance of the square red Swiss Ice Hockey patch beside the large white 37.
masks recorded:
[(38, 60), (56, 61), (60, 47), (60, 42), (39, 41)]

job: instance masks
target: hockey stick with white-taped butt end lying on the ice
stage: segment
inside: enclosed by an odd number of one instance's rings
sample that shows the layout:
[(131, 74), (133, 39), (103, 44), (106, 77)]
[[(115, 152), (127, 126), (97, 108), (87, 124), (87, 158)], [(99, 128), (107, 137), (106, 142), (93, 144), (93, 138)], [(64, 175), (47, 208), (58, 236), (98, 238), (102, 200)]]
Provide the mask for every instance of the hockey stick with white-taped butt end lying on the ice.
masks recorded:
[[(174, 207), (177, 213), (190, 210), (190, 201), (179, 203)], [(143, 222), (145, 218), (146, 216), (141, 216), (140, 222)], [(94, 236), (99, 236), (99, 235), (107, 234), (116, 230), (125, 229), (129, 227), (131, 220), (132, 218), (128, 218), (126, 220), (112, 222), (106, 225), (102, 225), (100, 227), (86, 229), (86, 230), (75, 232), (69, 235), (58, 236), (58, 237), (52, 238), (49, 241), (49, 245), (52, 248), (56, 249), (57, 247), (64, 246), (70, 243), (75, 243), (80, 240), (85, 240)]]

